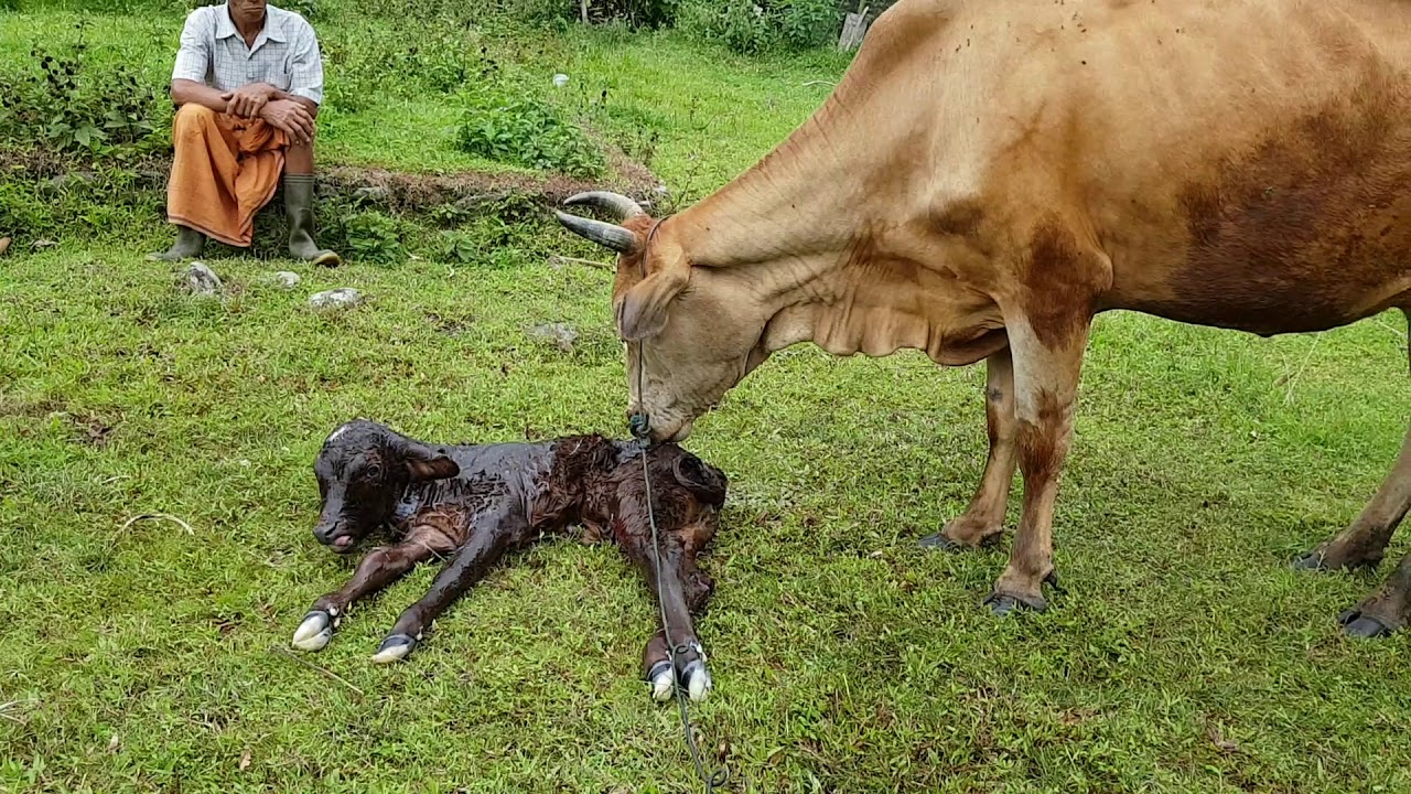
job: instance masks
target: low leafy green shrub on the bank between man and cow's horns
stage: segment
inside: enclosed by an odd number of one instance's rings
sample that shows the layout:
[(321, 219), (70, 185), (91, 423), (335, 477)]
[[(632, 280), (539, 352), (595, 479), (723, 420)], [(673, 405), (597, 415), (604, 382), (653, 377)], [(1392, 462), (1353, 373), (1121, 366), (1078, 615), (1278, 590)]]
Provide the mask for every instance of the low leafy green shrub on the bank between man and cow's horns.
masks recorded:
[(573, 177), (600, 177), (602, 154), (562, 112), (532, 93), (477, 83), (466, 92), (456, 146), (467, 154)]

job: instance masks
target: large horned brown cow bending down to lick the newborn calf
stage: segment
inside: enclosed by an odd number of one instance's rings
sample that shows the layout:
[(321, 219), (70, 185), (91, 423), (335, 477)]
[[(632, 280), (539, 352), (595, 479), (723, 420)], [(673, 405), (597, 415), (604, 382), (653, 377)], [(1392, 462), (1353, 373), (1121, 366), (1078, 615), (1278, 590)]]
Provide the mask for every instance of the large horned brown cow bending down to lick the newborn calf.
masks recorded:
[[(755, 167), (653, 219), (559, 213), (619, 251), (631, 410), (656, 439), (772, 352), (986, 362), (989, 461), (928, 545), (1023, 517), (986, 599), (1043, 609), (1098, 312), (1270, 336), (1411, 307), (1411, 1), (902, 0), (828, 100)], [(1376, 564), (1411, 434), (1371, 504), (1302, 565)], [(1350, 610), (1407, 624), (1411, 561)]]

